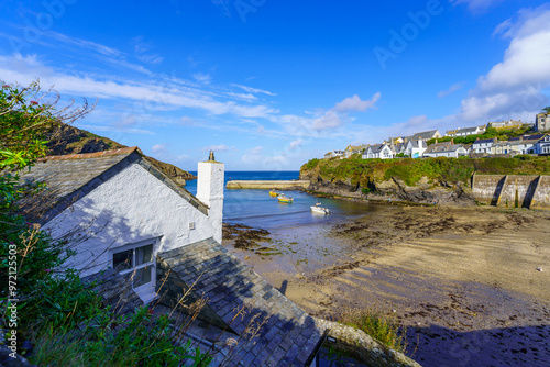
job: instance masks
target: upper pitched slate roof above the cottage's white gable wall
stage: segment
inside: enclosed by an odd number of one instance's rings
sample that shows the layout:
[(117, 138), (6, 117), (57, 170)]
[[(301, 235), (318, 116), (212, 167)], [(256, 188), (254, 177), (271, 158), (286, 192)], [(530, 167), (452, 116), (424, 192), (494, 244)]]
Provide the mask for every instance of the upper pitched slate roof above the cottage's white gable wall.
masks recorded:
[(31, 171), (22, 173), (20, 177), (22, 184), (46, 182), (46, 189), (40, 194), (21, 200), (19, 205), (29, 220), (45, 224), (74, 202), (134, 163), (162, 180), (199, 211), (205, 214), (208, 213), (208, 207), (162, 174), (135, 146), (98, 153), (41, 158), (31, 168)]

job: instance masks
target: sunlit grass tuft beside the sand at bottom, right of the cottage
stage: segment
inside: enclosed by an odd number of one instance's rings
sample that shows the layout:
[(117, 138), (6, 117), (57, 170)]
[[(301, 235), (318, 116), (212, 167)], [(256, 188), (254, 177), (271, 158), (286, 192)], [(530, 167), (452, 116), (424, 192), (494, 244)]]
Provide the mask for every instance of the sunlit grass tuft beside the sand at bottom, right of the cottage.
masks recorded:
[(393, 314), (386, 314), (374, 309), (348, 310), (340, 322), (362, 330), (385, 346), (404, 353), (407, 347), (406, 329), (402, 327)]

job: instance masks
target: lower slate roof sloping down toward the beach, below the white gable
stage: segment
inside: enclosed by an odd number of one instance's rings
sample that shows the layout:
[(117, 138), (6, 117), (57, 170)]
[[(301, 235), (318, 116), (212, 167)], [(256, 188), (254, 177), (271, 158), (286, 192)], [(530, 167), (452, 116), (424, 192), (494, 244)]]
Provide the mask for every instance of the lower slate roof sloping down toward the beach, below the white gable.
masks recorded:
[[(212, 238), (161, 253), (157, 259), (185, 285), (195, 285), (193, 291), (206, 299), (208, 310), (238, 335), (246, 334), (251, 321), (268, 318), (256, 337), (239, 342), (223, 366), (307, 366), (320, 348), (327, 327)], [(250, 311), (235, 316), (242, 307)]]

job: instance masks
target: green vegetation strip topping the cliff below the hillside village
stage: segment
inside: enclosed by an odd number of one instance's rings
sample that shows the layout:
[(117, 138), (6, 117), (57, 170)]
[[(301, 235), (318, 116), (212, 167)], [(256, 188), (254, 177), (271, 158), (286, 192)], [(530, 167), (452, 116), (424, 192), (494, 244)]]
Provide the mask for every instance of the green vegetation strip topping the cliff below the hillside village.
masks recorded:
[(408, 186), (417, 185), (424, 177), (433, 184), (468, 184), (474, 171), (481, 175), (550, 175), (550, 158), (311, 159), (301, 166), (300, 178), (320, 177), (324, 181), (369, 188), (392, 178)]

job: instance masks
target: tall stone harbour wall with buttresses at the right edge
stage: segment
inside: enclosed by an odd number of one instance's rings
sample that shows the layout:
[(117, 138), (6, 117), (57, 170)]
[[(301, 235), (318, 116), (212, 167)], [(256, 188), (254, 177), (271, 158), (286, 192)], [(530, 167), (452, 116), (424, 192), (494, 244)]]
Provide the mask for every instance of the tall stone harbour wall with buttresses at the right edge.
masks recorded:
[(472, 193), (495, 207), (550, 209), (550, 176), (474, 175)]

